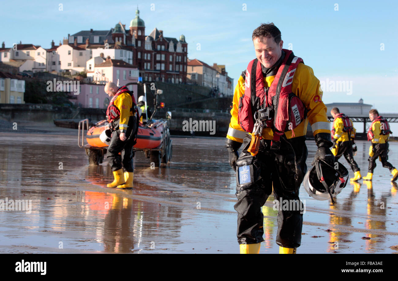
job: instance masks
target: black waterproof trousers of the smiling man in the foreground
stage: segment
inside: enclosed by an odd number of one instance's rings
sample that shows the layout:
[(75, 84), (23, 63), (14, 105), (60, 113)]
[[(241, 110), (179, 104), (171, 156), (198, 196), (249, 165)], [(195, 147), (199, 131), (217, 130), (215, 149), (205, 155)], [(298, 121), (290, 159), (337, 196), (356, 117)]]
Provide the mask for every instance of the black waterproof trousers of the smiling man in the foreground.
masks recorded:
[[(297, 200), (298, 191), (307, 171), (308, 150), (305, 136), (282, 139), (278, 151), (270, 149), (271, 140), (261, 140), (259, 152), (248, 152), (251, 137), (246, 135), (243, 150), (236, 162), (236, 202), (238, 212), (238, 243), (256, 244), (263, 239), (263, 214), (272, 189), (276, 200)], [(297, 170), (296, 170), (297, 167)], [(297, 172), (297, 173), (296, 173)], [(278, 211), (276, 243), (285, 248), (297, 248), (301, 243), (302, 213), (296, 210)]]

